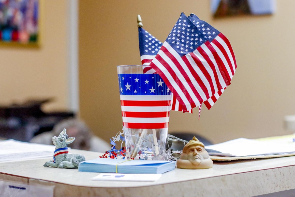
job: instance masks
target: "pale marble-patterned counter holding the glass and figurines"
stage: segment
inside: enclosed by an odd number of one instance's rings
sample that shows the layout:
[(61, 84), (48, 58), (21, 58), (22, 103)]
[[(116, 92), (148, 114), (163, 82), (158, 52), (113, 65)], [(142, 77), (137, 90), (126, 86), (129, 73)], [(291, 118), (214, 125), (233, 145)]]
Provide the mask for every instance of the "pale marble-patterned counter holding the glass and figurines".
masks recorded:
[[(72, 149), (86, 160), (101, 153)], [(99, 173), (46, 168), (52, 158), (0, 163), (0, 179), (54, 185), (54, 196), (257, 196), (295, 188), (295, 156), (214, 163), (212, 169), (166, 172), (155, 182), (91, 181)], [(118, 187), (119, 186), (119, 187)]]

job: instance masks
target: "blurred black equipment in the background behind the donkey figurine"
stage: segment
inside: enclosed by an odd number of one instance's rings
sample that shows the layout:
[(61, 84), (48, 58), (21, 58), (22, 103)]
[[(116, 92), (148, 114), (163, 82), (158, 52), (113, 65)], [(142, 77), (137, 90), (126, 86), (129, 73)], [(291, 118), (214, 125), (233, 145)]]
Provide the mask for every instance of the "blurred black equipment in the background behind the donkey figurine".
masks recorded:
[(0, 138), (29, 141), (32, 137), (51, 131), (65, 118), (75, 117), (73, 112), (44, 113), (41, 105), (53, 99), (27, 100), (22, 104), (0, 105)]

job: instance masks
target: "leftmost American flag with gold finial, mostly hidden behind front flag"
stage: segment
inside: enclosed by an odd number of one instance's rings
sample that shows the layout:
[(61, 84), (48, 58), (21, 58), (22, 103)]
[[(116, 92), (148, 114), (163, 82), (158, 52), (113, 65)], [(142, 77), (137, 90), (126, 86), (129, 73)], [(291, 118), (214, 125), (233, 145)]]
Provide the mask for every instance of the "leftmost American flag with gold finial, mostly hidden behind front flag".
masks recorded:
[[(142, 27), (138, 27), (138, 40), (139, 40), (139, 52), (141, 58), (141, 64), (143, 65), (144, 74), (154, 74), (156, 71), (150, 67), (150, 63), (155, 58), (159, 49), (162, 47), (161, 43), (157, 38), (151, 35), (148, 31)], [(182, 106), (179, 105), (176, 97), (172, 94), (171, 110), (182, 111)], [(189, 110), (189, 113), (193, 113), (193, 110)], [(200, 117), (199, 117), (200, 118)]]

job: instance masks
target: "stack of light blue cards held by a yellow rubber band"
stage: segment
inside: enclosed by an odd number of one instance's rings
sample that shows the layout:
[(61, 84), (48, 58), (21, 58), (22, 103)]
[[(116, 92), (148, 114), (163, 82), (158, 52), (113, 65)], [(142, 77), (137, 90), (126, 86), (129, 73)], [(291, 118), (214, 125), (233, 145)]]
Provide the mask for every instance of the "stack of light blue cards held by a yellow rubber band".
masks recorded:
[(173, 161), (156, 160), (130, 160), (98, 158), (84, 161), (79, 164), (82, 172), (117, 172), (118, 173), (140, 173), (140, 174), (162, 174), (175, 169)]

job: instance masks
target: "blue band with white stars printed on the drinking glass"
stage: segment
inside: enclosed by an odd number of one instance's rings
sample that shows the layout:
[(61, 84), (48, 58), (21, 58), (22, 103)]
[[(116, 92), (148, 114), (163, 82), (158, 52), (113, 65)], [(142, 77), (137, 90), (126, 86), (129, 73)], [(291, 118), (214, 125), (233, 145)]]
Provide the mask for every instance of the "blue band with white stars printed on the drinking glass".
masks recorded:
[(171, 95), (158, 74), (118, 74), (120, 95)]

